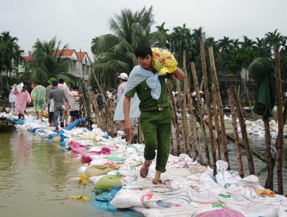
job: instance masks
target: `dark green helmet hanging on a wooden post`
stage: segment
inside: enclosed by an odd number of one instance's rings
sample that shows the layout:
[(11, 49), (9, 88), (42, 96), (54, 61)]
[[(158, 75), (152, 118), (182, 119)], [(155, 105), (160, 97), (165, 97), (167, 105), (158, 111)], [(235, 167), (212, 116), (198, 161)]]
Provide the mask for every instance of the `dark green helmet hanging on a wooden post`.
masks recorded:
[(262, 82), (269, 74), (269, 63), (263, 57), (258, 57), (248, 68), (248, 74), (255, 82)]

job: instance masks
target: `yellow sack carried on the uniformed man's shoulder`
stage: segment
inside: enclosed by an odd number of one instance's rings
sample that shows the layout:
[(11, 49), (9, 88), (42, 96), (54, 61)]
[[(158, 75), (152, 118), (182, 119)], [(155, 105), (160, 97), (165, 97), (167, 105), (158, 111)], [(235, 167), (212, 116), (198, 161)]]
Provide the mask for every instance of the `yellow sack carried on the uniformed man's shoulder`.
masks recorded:
[[(165, 60), (164, 64), (160, 62), (163, 57), (169, 59)], [(166, 75), (166, 73), (172, 73), (176, 70), (177, 61), (169, 51), (162, 48), (152, 48), (151, 66), (155, 70), (159, 71), (158, 75)]]

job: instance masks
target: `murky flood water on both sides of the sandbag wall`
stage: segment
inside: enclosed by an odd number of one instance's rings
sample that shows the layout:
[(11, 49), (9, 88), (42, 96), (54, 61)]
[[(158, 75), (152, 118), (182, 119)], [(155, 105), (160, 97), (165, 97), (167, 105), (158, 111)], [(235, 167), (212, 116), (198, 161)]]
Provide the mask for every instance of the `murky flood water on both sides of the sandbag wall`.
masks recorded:
[[(76, 179), (83, 173), (80, 167), (85, 164), (65, 147), (48, 141), (48, 138), (28, 131), (0, 133), (0, 216), (127, 216), (125, 211), (106, 212), (94, 208), (94, 185), (86, 183), (78, 186)], [(252, 149), (265, 156), (265, 137), (249, 135), (249, 141)], [(229, 140), (227, 143), (230, 167), (238, 171), (235, 145)], [(272, 140), (274, 143), (275, 140)], [(286, 151), (284, 148), (284, 194), (287, 194)], [(248, 176), (245, 150), (242, 150), (242, 155), (245, 176)], [(264, 186), (266, 163), (256, 157), (253, 160), (259, 183)], [(277, 190), (276, 169), (274, 190)], [(85, 195), (90, 200), (83, 202), (70, 198), (70, 195)], [(141, 214), (133, 212), (130, 216)]]

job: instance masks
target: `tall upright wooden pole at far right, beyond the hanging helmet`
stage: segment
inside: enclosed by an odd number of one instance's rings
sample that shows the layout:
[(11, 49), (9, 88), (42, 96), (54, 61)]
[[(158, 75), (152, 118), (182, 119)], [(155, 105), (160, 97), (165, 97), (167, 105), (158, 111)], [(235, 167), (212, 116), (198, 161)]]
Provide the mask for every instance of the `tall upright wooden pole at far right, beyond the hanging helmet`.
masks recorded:
[[(275, 78), (276, 78), (276, 95), (278, 107), (278, 158), (277, 158), (277, 185), (278, 194), (283, 194), (283, 177), (282, 177), (282, 163), (283, 163), (283, 114), (282, 114), (282, 83), (281, 83), (281, 69), (280, 58), (278, 49), (274, 49), (274, 65), (275, 65)], [(286, 108), (285, 108), (286, 109)]]

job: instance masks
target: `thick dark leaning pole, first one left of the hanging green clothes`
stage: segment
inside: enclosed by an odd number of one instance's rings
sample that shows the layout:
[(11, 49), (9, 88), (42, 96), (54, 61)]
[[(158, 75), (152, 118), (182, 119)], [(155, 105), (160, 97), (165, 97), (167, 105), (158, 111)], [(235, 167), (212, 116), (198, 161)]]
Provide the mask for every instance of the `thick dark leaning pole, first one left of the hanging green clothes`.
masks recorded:
[(246, 155), (247, 155), (249, 174), (255, 175), (253, 157), (252, 157), (251, 147), (249, 144), (248, 135), (247, 135), (247, 131), (246, 131), (246, 125), (245, 125), (245, 120), (244, 120), (244, 116), (243, 116), (243, 109), (241, 107), (235, 85), (231, 86), (230, 90), (232, 92), (232, 98), (233, 98), (234, 104), (236, 106), (236, 114), (237, 114), (237, 117), (239, 119), (239, 124), (240, 124), (240, 128), (241, 128), (241, 135), (242, 135), (243, 144), (245, 146), (245, 151), (246, 151)]

